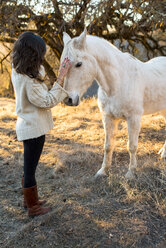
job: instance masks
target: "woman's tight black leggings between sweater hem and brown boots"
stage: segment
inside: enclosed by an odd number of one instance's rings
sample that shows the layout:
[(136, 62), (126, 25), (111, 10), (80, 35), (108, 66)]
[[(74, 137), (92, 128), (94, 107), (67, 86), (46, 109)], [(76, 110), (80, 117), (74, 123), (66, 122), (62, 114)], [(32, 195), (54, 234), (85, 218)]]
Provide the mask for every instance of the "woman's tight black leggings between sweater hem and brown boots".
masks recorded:
[(43, 150), (45, 135), (24, 140), (24, 188), (36, 185), (35, 172)]

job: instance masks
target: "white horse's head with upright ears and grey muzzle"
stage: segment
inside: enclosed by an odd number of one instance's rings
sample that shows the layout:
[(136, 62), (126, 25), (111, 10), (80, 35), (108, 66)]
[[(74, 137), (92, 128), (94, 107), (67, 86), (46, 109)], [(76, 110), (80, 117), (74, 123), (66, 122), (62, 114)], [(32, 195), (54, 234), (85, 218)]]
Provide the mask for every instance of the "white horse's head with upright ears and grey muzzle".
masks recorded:
[(71, 67), (64, 80), (64, 89), (69, 93), (65, 103), (70, 106), (77, 106), (81, 97), (91, 86), (96, 74), (96, 60), (87, 51), (87, 31), (80, 36), (72, 38), (63, 34), (64, 49), (61, 61), (68, 57)]

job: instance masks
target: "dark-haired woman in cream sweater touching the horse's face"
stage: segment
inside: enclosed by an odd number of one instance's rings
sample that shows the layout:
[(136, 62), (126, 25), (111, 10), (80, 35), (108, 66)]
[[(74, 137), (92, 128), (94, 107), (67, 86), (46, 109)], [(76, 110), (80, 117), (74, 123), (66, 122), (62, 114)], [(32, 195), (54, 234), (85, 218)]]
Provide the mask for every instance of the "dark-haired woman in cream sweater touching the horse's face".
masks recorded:
[(46, 53), (44, 40), (32, 33), (21, 34), (12, 51), (12, 83), (16, 96), (17, 139), (24, 146), (24, 176), (22, 187), (24, 207), (28, 216), (47, 213), (50, 208), (43, 207), (39, 201), (35, 179), (36, 167), (45, 142), (45, 134), (53, 128), (50, 108), (63, 101), (67, 92), (59, 85), (69, 67), (68, 58), (62, 63), (57, 82), (48, 91), (43, 83), (44, 67), (42, 61)]

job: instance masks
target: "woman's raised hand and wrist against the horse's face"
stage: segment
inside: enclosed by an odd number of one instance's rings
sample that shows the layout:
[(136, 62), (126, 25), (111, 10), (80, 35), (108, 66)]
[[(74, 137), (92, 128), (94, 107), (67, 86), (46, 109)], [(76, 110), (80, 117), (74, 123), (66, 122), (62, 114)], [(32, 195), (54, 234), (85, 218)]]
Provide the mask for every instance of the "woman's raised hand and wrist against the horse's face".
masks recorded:
[(62, 86), (63, 80), (71, 66), (70, 59), (67, 57), (64, 59), (59, 68), (57, 83)]

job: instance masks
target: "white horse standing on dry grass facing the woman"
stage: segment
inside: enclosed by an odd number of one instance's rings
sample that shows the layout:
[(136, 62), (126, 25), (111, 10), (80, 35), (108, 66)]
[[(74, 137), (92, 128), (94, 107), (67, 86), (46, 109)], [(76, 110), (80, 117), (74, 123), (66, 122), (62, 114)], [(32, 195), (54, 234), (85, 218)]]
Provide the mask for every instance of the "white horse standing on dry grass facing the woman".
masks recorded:
[[(63, 35), (61, 60), (69, 57), (71, 68), (64, 81), (66, 104), (76, 106), (94, 79), (99, 84), (98, 103), (105, 130), (104, 159), (96, 176), (106, 175), (112, 162), (115, 134), (120, 119), (128, 124), (130, 154), (127, 178), (134, 177), (141, 116), (159, 112), (166, 118), (166, 57), (144, 63), (123, 53), (106, 40), (86, 34), (73, 39)], [(161, 149), (166, 157), (166, 142)]]

